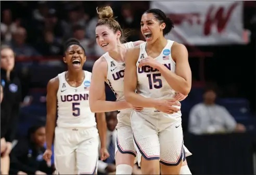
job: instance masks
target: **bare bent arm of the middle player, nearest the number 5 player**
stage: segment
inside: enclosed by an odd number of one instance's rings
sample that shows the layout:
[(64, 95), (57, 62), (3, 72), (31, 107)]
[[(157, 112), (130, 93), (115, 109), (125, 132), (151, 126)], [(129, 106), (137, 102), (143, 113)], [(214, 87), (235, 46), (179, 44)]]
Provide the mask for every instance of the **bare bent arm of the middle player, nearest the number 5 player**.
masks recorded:
[(107, 74), (107, 62), (104, 58), (98, 59), (93, 65), (92, 80), (89, 89), (89, 105), (92, 112), (109, 112), (131, 108), (126, 101), (106, 101), (105, 75)]

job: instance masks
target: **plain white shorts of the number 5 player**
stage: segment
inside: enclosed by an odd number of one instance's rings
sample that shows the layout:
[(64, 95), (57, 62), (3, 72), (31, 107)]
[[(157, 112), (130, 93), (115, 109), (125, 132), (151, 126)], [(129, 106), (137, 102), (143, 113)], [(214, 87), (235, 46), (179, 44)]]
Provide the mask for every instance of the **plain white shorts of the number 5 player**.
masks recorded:
[(98, 130), (55, 128), (55, 167), (59, 174), (95, 174), (98, 164)]

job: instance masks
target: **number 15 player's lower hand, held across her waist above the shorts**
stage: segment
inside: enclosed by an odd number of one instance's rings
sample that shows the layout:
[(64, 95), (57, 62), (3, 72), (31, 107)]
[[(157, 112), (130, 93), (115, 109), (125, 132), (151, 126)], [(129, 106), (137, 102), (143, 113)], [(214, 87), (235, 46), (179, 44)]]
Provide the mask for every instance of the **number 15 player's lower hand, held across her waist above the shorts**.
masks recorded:
[(173, 114), (180, 111), (180, 109), (174, 106), (181, 106), (181, 104), (178, 103), (178, 101), (167, 99), (159, 101), (158, 105), (156, 106), (156, 109), (168, 114)]

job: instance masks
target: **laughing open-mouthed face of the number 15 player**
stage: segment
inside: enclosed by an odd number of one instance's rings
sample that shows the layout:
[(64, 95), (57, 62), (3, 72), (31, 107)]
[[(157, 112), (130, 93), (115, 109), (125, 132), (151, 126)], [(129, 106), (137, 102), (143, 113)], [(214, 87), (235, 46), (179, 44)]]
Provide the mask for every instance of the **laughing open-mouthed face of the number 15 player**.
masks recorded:
[(153, 13), (144, 13), (140, 21), (140, 31), (147, 42), (154, 42), (157, 38), (163, 36), (165, 23), (159, 23), (153, 16)]

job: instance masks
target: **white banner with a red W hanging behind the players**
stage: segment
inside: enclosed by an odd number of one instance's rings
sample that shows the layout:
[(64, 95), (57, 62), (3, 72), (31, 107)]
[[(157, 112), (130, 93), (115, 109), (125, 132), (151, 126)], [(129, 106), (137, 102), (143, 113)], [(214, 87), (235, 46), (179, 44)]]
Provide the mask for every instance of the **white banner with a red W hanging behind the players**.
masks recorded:
[(241, 1), (151, 1), (173, 20), (168, 39), (192, 45), (244, 44)]

